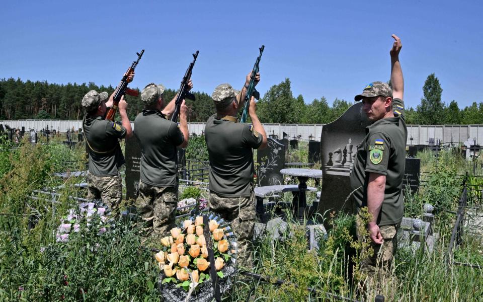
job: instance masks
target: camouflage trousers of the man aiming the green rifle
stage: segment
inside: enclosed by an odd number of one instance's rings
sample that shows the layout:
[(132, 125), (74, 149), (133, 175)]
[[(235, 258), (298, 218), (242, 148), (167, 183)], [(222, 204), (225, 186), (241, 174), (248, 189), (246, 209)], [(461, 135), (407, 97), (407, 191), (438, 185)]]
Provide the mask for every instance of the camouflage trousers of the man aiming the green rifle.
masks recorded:
[(251, 269), (253, 267), (251, 242), (257, 220), (254, 192), (252, 191), (250, 197), (238, 198), (221, 197), (210, 193), (209, 206), (221, 218), (230, 222), (238, 243), (236, 252), (238, 267)]

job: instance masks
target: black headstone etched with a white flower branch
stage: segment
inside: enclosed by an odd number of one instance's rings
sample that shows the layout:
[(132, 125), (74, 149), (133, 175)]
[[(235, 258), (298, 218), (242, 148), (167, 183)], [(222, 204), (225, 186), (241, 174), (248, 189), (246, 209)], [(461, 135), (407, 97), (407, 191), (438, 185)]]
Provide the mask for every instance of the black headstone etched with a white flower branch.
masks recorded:
[(257, 182), (259, 186), (282, 185), (280, 170), (285, 163), (285, 145), (267, 138), (267, 147), (257, 150)]

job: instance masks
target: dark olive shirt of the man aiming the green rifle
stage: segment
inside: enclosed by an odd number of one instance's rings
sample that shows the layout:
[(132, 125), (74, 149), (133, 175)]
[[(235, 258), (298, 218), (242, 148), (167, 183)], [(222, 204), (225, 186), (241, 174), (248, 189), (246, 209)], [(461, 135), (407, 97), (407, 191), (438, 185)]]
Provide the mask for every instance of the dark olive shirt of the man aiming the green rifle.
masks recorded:
[(222, 197), (249, 197), (255, 172), (253, 149), (262, 144), (262, 135), (232, 116), (213, 115), (206, 122), (205, 139), (210, 191)]

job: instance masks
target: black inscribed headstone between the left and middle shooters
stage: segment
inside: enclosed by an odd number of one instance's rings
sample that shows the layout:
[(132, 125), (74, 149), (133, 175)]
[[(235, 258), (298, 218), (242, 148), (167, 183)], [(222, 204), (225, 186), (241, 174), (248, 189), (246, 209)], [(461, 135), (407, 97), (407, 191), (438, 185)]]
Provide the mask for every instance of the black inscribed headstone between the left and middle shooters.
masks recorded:
[(132, 135), (126, 138), (124, 149), (126, 160), (126, 199), (136, 200), (139, 189), (139, 168), (141, 165), (141, 145), (137, 138)]

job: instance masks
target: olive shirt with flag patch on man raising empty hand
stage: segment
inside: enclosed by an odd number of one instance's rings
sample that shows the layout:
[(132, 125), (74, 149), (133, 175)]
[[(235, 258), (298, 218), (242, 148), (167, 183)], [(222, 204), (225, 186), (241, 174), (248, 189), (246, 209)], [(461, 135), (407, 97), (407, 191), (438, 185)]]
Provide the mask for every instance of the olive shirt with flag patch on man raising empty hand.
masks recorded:
[(392, 100), (395, 117), (383, 118), (366, 128), (366, 136), (357, 147), (351, 186), (356, 206), (367, 206), (369, 173), (386, 176), (384, 201), (377, 217), (378, 225), (397, 224), (403, 219), (403, 178), (406, 164), (408, 130), (404, 118), (404, 103)]

